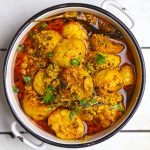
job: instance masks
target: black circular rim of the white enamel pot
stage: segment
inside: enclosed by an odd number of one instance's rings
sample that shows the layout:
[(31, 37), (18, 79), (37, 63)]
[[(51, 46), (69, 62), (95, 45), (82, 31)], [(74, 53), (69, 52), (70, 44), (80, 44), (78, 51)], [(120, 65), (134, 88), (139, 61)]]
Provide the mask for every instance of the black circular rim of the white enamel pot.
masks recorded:
[[(120, 126), (118, 126), (113, 132), (110, 132), (108, 135), (102, 137), (101, 139), (98, 139), (98, 140), (95, 140), (95, 141), (92, 141), (92, 142), (88, 142), (88, 143), (81, 143), (81, 144), (62, 144), (62, 143), (56, 143), (56, 142), (53, 142), (53, 141), (50, 141), (50, 140), (47, 140), (43, 137), (41, 137), (39, 134), (33, 132), (28, 126), (26, 126), (22, 121), (21, 119), (19, 119), (16, 115), (16, 112), (15, 110), (13, 109), (13, 107), (11, 106), (10, 102), (9, 102), (9, 98), (8, 98), (8, 95), (7, 95), (7, 91), (6, 91), (6, 82), (5, 82), (5, 71), (6, 71), (6, 67), (7, 67), (7, 63), (8, 63), (8, 60), (9, 60), (9, 55), (10, 55), (10, 52), (13, 48), (13, 45), (15, 44), (18, 36), (22, 33), (22, 31), (30, 24), (30, 22), (34, 19), (36, 19), (37, 17), (41, 16), (42, 14), (44, 13), (47, 13), (49, 11), (52, 11), (52, 10), (56, 10), (56, 9), (59, 9), (59, 8), (65, 8), (65, 7), (83, 7), (83, 8), (89, 8), (89, 9), (93, 9), (93, 10), (96, 10), (96, 11), (99, 11), (105, 15), (107, 15), (108, 17), (110, 17), (111, 19), (115, 20), (126, 32), (127, 34), (129, 35), (129, 37), (131, 38), (132, 42), (134, 43), (135, 47), (136, 47), (136, 50), (138, 52), (138, 55), (139, 55), (139, 58), (140, 58), (140, 62), (141, 62), (141, 68), (142, 68), (142, 84), (141, 84), (141, 90), (140, 90), (140, 93), (139, 93), (139, 97), (138, 97), (138, 100), (133, 108), (133, 110), (130, 112), (130, 114), (128, 115), (128, 117), (124, 120), (124, 122), (122, 122), (122, 124)], [(51, 144), (51, 145), (54, 145), (54, 146), (59, 146), (59, 147), (65, 147), (65, 148), (82, 148), (82, 147), (88, 147), (88, 146), (92, 146), (92, 145), (95, 145), (95, 144), (98, 144), (98, 143), (101, 143), (105, 140), (107, 140), (108, 138), (112, 137), (114, 134), (116, 134), (117, 132), (119, 132), (126, 124), (127, 122), (132, 118), (132, 116), (134, 115), (134, 113), (136, 112), (141, 100), (142, 100), (142, 97), (143, 97), (143, 94), (144, 94), (144, 89), (145, 89), (145, 81), (146, 81), (146, 70), (145, 70), (145, 62), (144, 62), (144, 58), (143, 58), (143, 54), (141, 52), (141, 48), (136, 40), (136, 38), (134, 37), (134, 35), (132, 34), (132, 32), (128, 29), (128, 27), (120, 20), (118, 19), (115, 15), (109, 13), (108, 11), (100, 8), (100, 7), (97, 7), (97, 6), (94, 6), (94, 5), (91, 5), (91, 4), (84, 4), (84, 3), (63, 3), (63, 4), (59, 4), (59, 5), (55, 5), (55, 6), (52, 6), (52, 7), (48, 7), (38, 13), (36, 13), (35, 15), (33, 15), (30, 19), (28, 19), (21, 27), (20, 29), (16, 32), (16, 34), (14, 35), (9, 47), (8, 47), (8, 50), (7, 50), (7, 53), (6, 53), (6, 56), (5, 56), (5, 60), (4, 60), (4, 65), (3, 65), (3, 85), (4, 85), (4, 92), (5, 92), (5, 96), (6, 96), (6, 100), (7, 100), (7, 103), (9, 105), (9, 108), (12, 112), (12, 114), (14, 115), (15, 119), (19, 122), (19, 124), (25, 129), (27, 130), (31, 135), (33, 135), (34, 137), (36, 137), (37, 139), (45, 142), (45, 143), (48, 143), (48, 144)]]

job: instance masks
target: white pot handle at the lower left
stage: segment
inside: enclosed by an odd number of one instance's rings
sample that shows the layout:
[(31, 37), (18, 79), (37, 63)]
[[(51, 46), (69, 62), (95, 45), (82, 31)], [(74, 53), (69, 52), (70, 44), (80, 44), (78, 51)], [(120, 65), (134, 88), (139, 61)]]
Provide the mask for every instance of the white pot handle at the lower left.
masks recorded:
[(24, 137), (17, 129), (16, 121), (11, 124), (11, 131), (16, 138), (18, 138), (21, 142), (24, 142), (31, 148), (36, 149), (36, 150), (42, 150), (45, 148), (45, 145), (46, 145), (45, 143), (42, 142), (41, 144), (35, 144), (32, 141), (30, 141), (29, 139), (27, 139), (26, 137)]

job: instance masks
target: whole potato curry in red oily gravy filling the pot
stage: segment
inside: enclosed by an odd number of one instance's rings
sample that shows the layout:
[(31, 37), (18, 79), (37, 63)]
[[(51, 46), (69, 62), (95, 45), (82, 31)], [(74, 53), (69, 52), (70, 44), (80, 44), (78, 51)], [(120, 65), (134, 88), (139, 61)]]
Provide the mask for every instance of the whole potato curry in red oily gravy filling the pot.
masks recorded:
[(110, 22), (83, 12), (39, 20), (16, 54), (13, 91), (24, 113), (50, 134), (84, 139), (126, 111), (134, 60)]

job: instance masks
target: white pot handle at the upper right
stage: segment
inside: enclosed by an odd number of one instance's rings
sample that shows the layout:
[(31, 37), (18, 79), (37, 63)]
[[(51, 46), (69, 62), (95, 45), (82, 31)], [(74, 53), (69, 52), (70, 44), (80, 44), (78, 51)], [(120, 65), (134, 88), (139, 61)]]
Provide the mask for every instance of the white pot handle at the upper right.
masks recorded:
[(131, 22), (131, 26), (129, 27), (130, 29), (132, 29), (135, 25), (134, 20), (131, 17), (131, 13), (129, 12), (129, 10), (127, 10), (125, 7), (122, 7), (119, 3), (117, 3), (114, 0), (104, 0), (101, 3), (101, 8), (103, 9), (107, 9), (108, 6), (112, 6), (117, 8), (118, 10), (120, 10)]

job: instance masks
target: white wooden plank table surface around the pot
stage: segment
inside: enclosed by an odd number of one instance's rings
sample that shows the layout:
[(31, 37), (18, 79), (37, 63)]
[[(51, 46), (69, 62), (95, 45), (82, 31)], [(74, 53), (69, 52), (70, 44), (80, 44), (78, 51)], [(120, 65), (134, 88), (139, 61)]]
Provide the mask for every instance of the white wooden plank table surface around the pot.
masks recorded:
[[(150, 47), (150, 0), (117, 0), (132, 12), (135, 20), (135, 27), (132, 32), (136, 36), (141, 47)], [(81, 0), (0, 0), (0, 48), (7, 48), (12, 37), (18, 28), (32, 15), (47, 7), (66, 3), (81, 2)], [(102, 0), (82, 0), (82, 3), (89, 3), (100, 6)], [(118, 16), (118, 14), (117, 14)], [(142, 49), (147, 77), (150, 76), (150, 48)], [(0, 52), (0, 150), (31, 150), (27, 145), (18, 139), (10, 137), (10, 124), (15, 120), (11, 114), (2, 88), (2, 65), (5, 52)], [(147, 78), (146, 89), (142, 103), (134, 117), (123, 128), (123, 131), (116, 134), (109, 140), (98, 145), (84, 148), (85, 150), (150, 150), (150, 80)], [(24, 131), (20, 127), (20, 131)], [(140, 131), (140, 132), (139, 132)], [(34, 139), (31, 135), (25, 134), (28, 138)], [(61, 150), (51, 145), (46, 145), (45, 150)]]

